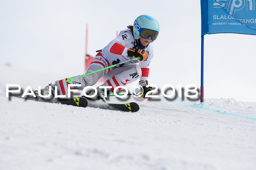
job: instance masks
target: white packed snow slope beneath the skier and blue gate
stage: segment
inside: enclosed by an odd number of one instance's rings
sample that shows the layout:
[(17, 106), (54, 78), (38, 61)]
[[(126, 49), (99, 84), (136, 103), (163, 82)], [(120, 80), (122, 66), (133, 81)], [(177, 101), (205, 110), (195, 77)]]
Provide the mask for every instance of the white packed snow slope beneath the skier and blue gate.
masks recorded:
[(137, 102), (131, 113), (6, 98), (34, 74), (1, 68), (1, 170), (256, 169), (256, 103), (110, 98)]

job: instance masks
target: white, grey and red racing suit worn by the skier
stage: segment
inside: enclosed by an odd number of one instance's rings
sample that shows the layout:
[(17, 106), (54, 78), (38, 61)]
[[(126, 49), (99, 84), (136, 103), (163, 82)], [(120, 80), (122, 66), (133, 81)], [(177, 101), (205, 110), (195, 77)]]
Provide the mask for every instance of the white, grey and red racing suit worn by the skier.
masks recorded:
[[(116, 67), (108, 68), (103, 71), (74, 79), (72, 80), (71, 84), (81, 84), (82, 86), (71, 86), (71, 89), (93, 86), (102, 77), (104, 80), (106, 80), (104, 83), (105, 86), (112, 86), (112, 88), (108, 90), (110, 93), (113, 93), (114, 88), (117, 86), (126, 86), (138, 79), (147, 80), (149, 63), (153, 58), (153, 46), (151, 43), (146, 47), (139, 46), (138, 41), (134, 39), (132, 32), (129, 29), (121, 31), (115, 39), (110, 41), (110, 43), (101, 50), (101, 52), (98, 52), (98, 54), (92, 60), (87, 73), (130, 60), (131, 57), (127, 56), (128, 48), (145, 50), (148, 52), (147, 60), (133, 60), (128, 63), (120, 64)], [(67, 79), (57, 80), (56, 82), (58, 92), (61, 95), (67, 94), (67, 85), (69, 83), (65, 82), (65, 80)]]

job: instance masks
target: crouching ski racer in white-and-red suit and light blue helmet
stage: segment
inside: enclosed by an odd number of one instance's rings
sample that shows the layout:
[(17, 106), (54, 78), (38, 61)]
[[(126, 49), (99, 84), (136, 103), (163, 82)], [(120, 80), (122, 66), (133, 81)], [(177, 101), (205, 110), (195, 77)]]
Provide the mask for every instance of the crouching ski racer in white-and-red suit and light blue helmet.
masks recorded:
[[(81, 86), (71, 85), (71, 89), (93, 86), (102, 77), (106, 81), (101, 86), (112, 86), (112, 88), (107, 88), (107, 94), (109, 95), (113, 94), (115, 87), (126, 86), (139, 79), (139, 85), (142, 87), (140, 90), (143, 91), (142, 97), (146, 98), (146, 93), (151, 91), (150, 87), (146, 87), (148, 85), (148, 67), (150, 60), (153, 58), (153, 46), (151, 42), (157, 39), (159, 24), (153, 17), (141, 15), (136, 18), (133, 25), (129, 25), (127, 28), (128, 29), (121, 31), (106, 47), (99, 50), (98, 54), (92, 60), (87, 73), (125, 62), (135, 57), (140, 57), (140, 59), (80, 78), (76, 78), (78, 76), (72, 77), (70, 84), (81, 84)], [(55, 84), (49, 84), (49, 86), (52, 87), (51, 93), (53, 96), (55, 94), (55, 86), (57, 86), (58, 94), (68, 94), (69, 83), (66, 82), (66, 80), (67, 78), (57, 80)], [(49, 86), (42, 89), (41, 94), (49, 94)], [(89, 94), (91, 92), (92, 91), (90, 91)], [(97, 87), (97, 92), (95, 98), (103, 99), (106, 102), (107, 98), (105, 97), (104, 88)], [(35, 94), (38, 94), (38, 91), (35, 91)]]

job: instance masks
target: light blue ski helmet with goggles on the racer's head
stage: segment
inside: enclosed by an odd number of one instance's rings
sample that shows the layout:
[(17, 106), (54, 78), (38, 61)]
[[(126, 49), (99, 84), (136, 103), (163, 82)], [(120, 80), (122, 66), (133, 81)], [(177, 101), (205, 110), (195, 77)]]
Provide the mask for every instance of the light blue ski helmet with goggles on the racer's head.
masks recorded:
[(154, 41), (157, 39), (158, 33), (159, 23), (152, 16), (140, 15), (133, 23), (133, 36), (135, 39), (151, 37), (151, 40)]

